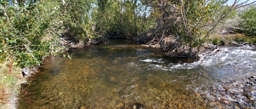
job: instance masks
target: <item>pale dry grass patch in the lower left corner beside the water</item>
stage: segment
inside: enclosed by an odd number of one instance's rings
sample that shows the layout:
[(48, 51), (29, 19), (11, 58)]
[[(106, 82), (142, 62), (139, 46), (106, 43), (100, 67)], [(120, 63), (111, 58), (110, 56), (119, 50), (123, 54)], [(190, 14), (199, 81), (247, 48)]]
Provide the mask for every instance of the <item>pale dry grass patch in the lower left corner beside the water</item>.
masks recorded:
[(25, 80), (21, 68), (17, 67), (17, 63), (12, 62), (11, 57), (0, 62), (0, 109), (15, 107), (15, 99), (20, 92), (20, 84)]

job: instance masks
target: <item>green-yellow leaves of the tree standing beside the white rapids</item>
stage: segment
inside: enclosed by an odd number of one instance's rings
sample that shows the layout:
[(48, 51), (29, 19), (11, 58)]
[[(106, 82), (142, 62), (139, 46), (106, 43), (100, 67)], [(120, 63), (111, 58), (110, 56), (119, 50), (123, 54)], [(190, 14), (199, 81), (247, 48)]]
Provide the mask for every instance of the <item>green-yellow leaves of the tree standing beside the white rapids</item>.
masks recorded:
[[(216, 14), (216, 11), (225, 2), (222, 0), (211, 0), (206, 3), (204, 0), (192, 0), (184, 3), (184, 10), (189, 10), (186, 13), (186, 22), (188, 31), (191, 31), (191, 36), (185, 30), (181, 30), (180, 35), (183, 35), (183, 41), (189, 43), (190, 37), (193, 41), (191, 42), (193, 47), (198, 47), (201, 43), (205, 41), (205, 34), (211, 32), (212, 23), (216, 22), (215, 19), (219, 19), (221, 15)], [(190, 5), (193, 4), (193, 5)], [(181, 15), (178, 15), (181, 16)], [(184, 25), (180, 28), (184, 28)]]

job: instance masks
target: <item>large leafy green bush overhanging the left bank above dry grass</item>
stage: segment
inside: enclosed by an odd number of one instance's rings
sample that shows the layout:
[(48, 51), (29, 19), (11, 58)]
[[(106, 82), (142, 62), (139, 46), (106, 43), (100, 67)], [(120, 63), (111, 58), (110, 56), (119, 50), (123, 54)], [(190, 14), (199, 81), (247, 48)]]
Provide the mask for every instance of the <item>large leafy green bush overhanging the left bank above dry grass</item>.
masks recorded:
[(3, 14), (0, 17), (0, 58), (13, 56), (22, 67), (39, 65), (42, 57), (65, 49), (59, 43), (65, 20), (59, 2), (24, 3), (27, 5), (20, 5), (15, 11), (17, 7), (10, 5), (12, 2), (2, 2), (5, 8), (1, 12), (7, 12), (9, 21)]

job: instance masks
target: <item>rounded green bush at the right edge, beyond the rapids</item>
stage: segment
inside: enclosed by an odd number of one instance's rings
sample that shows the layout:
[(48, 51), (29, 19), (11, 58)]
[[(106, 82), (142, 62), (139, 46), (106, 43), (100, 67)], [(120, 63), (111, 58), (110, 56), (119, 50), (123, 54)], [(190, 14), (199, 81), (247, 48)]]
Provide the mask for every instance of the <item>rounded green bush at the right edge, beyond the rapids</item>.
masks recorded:
[(256, 7), (251, 7), (239, 14), (242, 21), (239, 24), (241, 29), (236, 29), (238, 33), (243, 33), (246, 36), (256, 36)]

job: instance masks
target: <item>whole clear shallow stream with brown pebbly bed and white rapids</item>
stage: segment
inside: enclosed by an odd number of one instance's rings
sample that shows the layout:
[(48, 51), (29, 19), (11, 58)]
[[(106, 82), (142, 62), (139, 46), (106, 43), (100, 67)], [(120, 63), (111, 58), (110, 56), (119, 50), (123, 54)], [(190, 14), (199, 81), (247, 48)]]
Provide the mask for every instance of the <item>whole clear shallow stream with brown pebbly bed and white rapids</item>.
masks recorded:
[(18, 109), (256, 108), (255, 48), (221, 52), (199, 61), (169, 58), (120, 39), (71, 49), (72, 59), (45, 59)]

